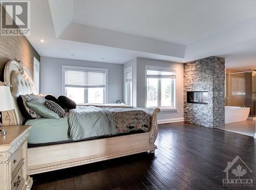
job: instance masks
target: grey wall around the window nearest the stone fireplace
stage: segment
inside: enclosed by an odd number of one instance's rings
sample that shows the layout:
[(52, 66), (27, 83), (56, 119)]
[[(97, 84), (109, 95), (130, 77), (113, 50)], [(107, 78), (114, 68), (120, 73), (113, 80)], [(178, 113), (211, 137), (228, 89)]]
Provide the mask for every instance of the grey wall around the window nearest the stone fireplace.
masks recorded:
[(145, 66), (159, 66), (166, 67), (169, 69), (176, 70), (177, 73), (177, 86), (176, 86), (176, 108), (177, 110), (173, 111), (161, 111), (158, 115), (159, 120), (169, 120), (176, 118), (183, 118), (183, 64), (182, 63), (173, 63), (159, 60), (151, 60), (144, 58), (137, 58), (136, 60), (132, 60), (131, 62), (124, 65), (124, 68), (129, 67), (131, 64), (136, 65), (136, 103), (137, 107), (145, 107)]

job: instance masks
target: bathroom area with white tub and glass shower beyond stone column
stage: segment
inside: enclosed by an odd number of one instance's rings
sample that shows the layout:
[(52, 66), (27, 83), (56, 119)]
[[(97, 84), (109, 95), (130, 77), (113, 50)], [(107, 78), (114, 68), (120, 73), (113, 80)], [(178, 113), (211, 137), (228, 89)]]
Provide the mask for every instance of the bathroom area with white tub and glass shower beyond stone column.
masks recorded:
[(225, 125), (218, 128), (256, 138), (256, 70), (226, 69), (225, 75)]

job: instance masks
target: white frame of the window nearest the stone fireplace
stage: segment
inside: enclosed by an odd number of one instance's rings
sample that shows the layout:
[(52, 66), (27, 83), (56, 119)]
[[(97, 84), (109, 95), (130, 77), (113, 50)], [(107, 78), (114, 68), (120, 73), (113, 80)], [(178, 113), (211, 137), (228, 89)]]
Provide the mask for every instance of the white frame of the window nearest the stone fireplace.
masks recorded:
[[(169, 69), (167, 67), (158, 67), (158, 66), (149, 66), (149, 65), (145, 65), (145, 91), (144, 91), (144, 94), (145, 94), (145, 107), (146, 106), (146, 103), (147, 103), (147, 70), (156, 70), (156, 71), (166, 71), (166, 72), (174, 72), (175, 73), (175, 83), (174, 83), (174, 98), (173, 98), (173, 106), (160, 106), (161, 105), (161, 86), (159, 86), (159, 81), (158, 81), (158, 100), (157, 100), (157, 103), (159, 106), (156, 106), (158, 108), (160, 108), (161, 111), (172, 111), (172, 110), (177, 110), (177, 105), (176, 105), (176, 102), (177, 102), (177, 72), (175, 69)], [(160, 101), (159, 101), (160, 99)], [(156, 108), (155, 106), (153, 107), (147, 107), (147, 108)]]

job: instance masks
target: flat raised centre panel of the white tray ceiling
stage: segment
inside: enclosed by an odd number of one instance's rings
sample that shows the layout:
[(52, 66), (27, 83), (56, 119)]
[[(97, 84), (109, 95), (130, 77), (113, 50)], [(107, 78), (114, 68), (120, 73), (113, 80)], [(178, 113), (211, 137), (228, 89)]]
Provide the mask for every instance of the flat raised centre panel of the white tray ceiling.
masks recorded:
[(256, 17), (255, 0), (75, 0), (74, 22), (189, 44)]

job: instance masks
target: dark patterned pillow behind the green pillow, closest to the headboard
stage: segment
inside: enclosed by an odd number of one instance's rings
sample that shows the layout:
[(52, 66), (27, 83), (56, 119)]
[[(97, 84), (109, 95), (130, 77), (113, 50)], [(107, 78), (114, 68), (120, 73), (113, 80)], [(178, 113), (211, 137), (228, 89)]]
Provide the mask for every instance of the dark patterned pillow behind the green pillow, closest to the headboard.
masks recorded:
[(20, 95), (17, 98), (17, 103), (18, 103), (18, 107), (20, 112), (22, 113), (22, 116), (25, 119), (38, 119), (41, 116), (36, 114), (36, 112), (34, 112), (29, 106), (28, 106), (28, 102), (34, 100), (34, 99), (38, 99), (40, 101), (44, 101), (45, 98), (39, 98), (38, 96), (34, 95), (34, 94), (30, 94), (30, 95)]

